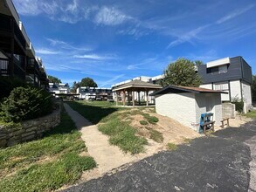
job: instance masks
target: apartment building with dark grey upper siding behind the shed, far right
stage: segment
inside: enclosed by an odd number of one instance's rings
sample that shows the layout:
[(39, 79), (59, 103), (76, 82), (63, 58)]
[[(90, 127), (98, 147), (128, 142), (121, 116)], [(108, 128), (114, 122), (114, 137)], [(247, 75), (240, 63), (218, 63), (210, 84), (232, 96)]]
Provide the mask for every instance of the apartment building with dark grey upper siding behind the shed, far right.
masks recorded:
[(197, 72), (203, 81), (200, 87), (228, 93), (221, 94), (223, 102), (243, 99), (245, 112), (252, 107), (252, 68), (244, 58), (238, 56), (214, 60), (198, 66)]

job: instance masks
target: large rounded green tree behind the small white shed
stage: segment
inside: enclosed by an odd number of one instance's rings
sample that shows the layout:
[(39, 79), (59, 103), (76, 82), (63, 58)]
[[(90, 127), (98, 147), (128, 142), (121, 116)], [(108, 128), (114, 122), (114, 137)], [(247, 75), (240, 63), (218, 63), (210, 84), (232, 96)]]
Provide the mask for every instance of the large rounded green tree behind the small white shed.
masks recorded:
[(178, 58), (164, 70), (163, 86), (200, 86), (201, 79), (195, 71), (194, 62)]

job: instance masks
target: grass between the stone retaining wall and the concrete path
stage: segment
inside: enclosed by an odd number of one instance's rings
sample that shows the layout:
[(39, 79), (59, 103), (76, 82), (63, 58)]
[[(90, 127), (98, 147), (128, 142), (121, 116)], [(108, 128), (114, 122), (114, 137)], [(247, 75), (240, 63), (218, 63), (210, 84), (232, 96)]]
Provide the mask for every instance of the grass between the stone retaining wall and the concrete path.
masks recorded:
[(94, 168), (73, 120), (63, 112), (61, 123), (38, 141), (0, 149), (0, 191), (49, 191), (72, 184)]

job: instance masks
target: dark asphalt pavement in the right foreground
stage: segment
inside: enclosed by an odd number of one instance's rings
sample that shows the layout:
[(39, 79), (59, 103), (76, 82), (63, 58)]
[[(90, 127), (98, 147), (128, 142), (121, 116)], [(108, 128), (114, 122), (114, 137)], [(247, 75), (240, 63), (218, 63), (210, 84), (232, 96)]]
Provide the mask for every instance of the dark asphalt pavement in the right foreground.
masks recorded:
[(256, 121), (197, 138), (73, 191), (256, 191)]

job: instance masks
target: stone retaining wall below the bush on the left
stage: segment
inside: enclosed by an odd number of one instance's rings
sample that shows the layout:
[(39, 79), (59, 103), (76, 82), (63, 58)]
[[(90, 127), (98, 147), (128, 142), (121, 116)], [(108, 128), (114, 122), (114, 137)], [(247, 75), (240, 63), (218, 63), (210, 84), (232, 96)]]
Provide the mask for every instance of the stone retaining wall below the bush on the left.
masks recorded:
[(45, 131), (60, 123), (60, 110), (42, 118), (26, 120), (20, 125), (0, 125), (0, 147), (10, 147), (24, 141), (42, 137)]

